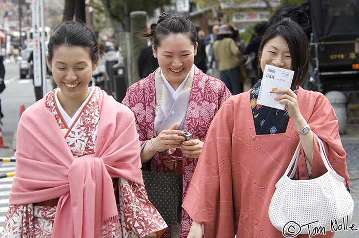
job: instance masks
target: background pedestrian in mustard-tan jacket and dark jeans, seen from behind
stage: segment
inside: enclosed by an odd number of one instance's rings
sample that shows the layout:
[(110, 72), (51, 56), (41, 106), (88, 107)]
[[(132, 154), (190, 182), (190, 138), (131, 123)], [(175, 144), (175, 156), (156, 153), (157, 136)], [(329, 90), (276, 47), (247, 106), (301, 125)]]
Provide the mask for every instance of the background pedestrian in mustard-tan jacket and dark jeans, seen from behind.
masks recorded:
[(228, 25), (222, 25), (217, 40), (213, 43), (214, 58), (218, 61), (220, 79), (233, 95), (242, 93), (239, 66), (242, 54), (233, 40), (233, 32)]

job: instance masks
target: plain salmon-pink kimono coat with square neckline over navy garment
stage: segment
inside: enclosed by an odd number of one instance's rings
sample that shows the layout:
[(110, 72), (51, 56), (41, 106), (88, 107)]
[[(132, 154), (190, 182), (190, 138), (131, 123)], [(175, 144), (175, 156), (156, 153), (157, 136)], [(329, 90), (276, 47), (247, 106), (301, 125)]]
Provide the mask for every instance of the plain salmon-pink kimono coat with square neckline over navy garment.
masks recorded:
[[(313, 133), (324, 141), (331, 165), (349, 183), (346, 153), (333, 107), (318, 92), (300, 88), (297, 98)], [(275, 183), (284, 174), (298, 142), (291, 119), (286, 133), (256, 135), (250, 91), (226, 101), (209, 128), (183, 202), (190, 217), (204, 224), (206, 238), (233, 238), (235, 234), (238, 238), (283, 237), (272, 226), (268, 208)], [(326, 171), (315, 143), (311, 177)], [(308, 179), (303, 151), (297, 177)], [(315, 237), (332, 236), (332, 232), (326, 232)]]

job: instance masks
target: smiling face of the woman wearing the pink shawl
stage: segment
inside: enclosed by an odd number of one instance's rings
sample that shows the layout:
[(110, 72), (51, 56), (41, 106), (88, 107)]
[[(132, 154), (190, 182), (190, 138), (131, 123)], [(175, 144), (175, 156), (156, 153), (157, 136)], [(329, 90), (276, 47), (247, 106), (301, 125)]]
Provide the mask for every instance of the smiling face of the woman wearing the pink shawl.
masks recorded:
[(57, 95), (60, 101), (82, 102), (88, 96), (92, 71), (98, 65), (98, 61), (95, 64), (92, 63), (89, 52), (89, 49), (85, 47), (63, 45), (54, 50), (51, 62), (47, 57), (53, 79), (61, 90)]

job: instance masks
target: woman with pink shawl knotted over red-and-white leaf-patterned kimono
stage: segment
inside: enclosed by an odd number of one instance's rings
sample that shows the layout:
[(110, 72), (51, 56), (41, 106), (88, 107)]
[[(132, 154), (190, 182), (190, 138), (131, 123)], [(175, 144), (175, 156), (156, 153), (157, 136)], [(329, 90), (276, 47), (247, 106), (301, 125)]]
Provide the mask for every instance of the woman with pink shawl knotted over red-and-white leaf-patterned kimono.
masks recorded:
[(133, 113), (97, 87), (94, 34), (66, 21), (48, 44), (58, 88), (17, 128), (16, 173), (4, 238), (157, 237), (167, 225), (148, 201)]

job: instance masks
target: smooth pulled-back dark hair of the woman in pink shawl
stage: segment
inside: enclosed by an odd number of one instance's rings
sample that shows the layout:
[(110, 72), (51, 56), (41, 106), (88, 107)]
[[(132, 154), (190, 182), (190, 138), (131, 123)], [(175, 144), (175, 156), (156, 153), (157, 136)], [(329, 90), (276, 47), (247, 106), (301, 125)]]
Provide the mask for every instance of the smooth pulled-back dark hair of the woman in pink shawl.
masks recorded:
[(52, 61), (54, 50), (61, 46), (80, 46), (89, 49), (93, 63), (98, 60), (98, 43), (94, 33), (84, 23), (69, 20), (56, 27), (50, 37), (48, 48), (49, 62)]

